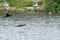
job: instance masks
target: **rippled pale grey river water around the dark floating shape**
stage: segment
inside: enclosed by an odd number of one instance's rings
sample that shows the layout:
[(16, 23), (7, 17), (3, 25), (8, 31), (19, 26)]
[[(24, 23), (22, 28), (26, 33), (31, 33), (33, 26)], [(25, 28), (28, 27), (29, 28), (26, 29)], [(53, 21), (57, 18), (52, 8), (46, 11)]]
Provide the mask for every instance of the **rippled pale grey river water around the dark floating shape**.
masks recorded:
[(60, 40), (60, 16), (0, 16), (0, 40)]

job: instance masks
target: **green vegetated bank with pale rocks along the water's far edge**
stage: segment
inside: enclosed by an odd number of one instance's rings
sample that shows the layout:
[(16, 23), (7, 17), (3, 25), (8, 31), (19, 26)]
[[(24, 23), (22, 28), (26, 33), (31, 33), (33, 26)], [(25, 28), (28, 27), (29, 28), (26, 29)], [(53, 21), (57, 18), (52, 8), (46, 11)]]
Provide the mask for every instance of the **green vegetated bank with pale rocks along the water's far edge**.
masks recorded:
[[(35, 2), (34, 0), (7, 0), (10, 6), (10, 13), (41, 13), (51, 11), (53, 13), (60, 13), (60, 2), (59, 0), (39, 0)], [(0, 14), (4, 13), (3, 2), (0, 0)], [(56, 7), (57, 6), (57, 7)]]

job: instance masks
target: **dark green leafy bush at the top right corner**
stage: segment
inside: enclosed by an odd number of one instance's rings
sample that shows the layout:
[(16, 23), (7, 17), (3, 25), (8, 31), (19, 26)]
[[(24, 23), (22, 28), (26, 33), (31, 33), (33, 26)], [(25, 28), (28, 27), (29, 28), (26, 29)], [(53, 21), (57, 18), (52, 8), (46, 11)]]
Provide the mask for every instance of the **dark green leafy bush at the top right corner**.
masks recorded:
[(46, 11), (60, 11), (60, 0), (44, 0)]

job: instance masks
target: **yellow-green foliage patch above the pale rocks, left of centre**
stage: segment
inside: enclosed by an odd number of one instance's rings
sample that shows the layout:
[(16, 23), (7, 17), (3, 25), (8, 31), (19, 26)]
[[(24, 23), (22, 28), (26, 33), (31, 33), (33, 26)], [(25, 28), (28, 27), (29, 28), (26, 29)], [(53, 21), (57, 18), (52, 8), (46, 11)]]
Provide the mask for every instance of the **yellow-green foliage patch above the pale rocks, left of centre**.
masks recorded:
[(10, 6), (14, 7), (26, 7), (32, 6), (34, 3), (27, 0), (8, 0)]

